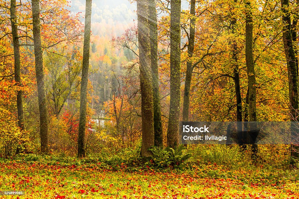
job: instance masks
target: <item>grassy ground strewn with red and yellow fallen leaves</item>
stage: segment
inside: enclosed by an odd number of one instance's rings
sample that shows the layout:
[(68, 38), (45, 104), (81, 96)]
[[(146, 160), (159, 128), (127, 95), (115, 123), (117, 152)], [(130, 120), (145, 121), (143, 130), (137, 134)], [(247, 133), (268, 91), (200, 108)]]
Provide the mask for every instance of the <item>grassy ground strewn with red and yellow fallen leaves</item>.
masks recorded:
[(62, 165), (0, 161), (0, 198), (299, 198), (298, 171), (227, 170), (214, 164), (185, 171), (149, 167), (105, 169), (100, 163)]

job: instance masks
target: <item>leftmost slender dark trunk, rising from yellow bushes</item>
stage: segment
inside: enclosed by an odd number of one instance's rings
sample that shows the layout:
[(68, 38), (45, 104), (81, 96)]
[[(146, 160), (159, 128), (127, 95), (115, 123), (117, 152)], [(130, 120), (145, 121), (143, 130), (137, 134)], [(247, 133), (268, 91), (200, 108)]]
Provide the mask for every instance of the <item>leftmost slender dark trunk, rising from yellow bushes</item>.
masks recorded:
[[(21, 63), (20, 63), (20, 48), (19, 48), (19, 36), (18, 27), (16, 25), (16, 0), (10, 1), (10, 22), (11, 22), (11, 34), (13, 36), (13, 56), (14, 56), (14, 69), (15, 69), (15, 81), (16, 84), (21, 86)], [(21, 130), (24, 130), (24, 113), (23, 113), (23, 92), (17, 93), (17, 108), (18, 108), (18, 125)]]

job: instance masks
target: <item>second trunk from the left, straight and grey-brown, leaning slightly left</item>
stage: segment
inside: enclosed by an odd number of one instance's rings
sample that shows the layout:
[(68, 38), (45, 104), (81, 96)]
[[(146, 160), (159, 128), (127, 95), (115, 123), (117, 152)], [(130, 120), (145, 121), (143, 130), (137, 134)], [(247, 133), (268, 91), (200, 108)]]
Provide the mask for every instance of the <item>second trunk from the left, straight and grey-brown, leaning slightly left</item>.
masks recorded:
[(42, 41), (40, 38), (39, 0), (32, 0), (33, 43), (35, 55), (35, 71), (38, 92), (38, 105), (40, 117), (41, 152), (48, 153), (48, 110), (44, 83), (44, 69), (42, 59)]

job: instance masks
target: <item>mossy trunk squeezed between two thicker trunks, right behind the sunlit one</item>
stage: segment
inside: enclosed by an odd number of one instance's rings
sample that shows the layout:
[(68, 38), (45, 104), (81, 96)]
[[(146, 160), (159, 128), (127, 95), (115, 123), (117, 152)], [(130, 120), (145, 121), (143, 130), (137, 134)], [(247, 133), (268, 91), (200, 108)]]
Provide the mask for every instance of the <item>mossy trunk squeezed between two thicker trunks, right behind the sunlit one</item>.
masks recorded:
[(151, 47), (152, 87), (154, 97), (155, 146), (163, 146), (159, 75), (158, 75), (158, 30), (155, 0), (149, 0), (149, 36)]

